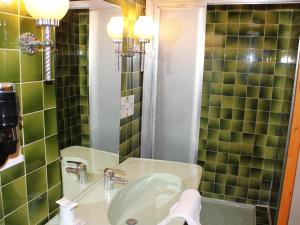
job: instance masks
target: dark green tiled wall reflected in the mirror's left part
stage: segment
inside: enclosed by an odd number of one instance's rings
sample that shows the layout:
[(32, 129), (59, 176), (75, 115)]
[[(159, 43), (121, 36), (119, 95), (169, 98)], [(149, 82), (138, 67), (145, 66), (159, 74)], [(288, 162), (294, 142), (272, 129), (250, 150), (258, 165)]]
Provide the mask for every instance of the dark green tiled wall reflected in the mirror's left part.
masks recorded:
[(71, 10), (56, 30), (60, 149), (89, 146), (88, 11)]

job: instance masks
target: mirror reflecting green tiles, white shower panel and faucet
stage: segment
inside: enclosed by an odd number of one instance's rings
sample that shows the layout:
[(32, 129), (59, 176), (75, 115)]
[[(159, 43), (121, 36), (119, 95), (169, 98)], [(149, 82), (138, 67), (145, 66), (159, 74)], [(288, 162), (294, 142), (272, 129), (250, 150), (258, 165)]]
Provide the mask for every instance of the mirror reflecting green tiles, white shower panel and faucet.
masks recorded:
[(58, 142), (70, 199), (119, 162), (121, 75), (106, 24), (120, 15), (104, 1), (74, 1), (56, 30)]

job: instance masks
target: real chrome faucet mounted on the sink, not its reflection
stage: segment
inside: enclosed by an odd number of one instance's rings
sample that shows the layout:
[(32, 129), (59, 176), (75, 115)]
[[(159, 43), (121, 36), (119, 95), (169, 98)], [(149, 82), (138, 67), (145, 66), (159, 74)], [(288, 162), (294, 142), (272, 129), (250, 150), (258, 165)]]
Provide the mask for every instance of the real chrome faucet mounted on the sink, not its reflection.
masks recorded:
[(104, 170), (104, 189), (111, 190), (114, 183), (127, 184), (128, 180), (123, 177), (117, 177), (115, 174), (125, 175), (125, 172), (118, 169), (106, 168)]

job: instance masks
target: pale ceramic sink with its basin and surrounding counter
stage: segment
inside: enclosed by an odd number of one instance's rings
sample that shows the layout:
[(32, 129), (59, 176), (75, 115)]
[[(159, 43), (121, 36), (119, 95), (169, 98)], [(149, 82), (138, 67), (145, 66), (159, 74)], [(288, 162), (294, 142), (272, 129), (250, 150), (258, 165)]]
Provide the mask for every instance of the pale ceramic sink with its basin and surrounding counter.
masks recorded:
[[(137, 158), (128, 158), (116, 168), (126, 173), (129, 183), (107, 191), (103, 178), (97, 180), (75, 199), (79, 204), (76, 218), (88, 225), (125, 225), (129, 218), (141, 225), (156, 225), (184, 190), (198, 189), (202, 174), (201, 167), (194, 164)], [(55, 217), (48, 225), (58, 221)]]

